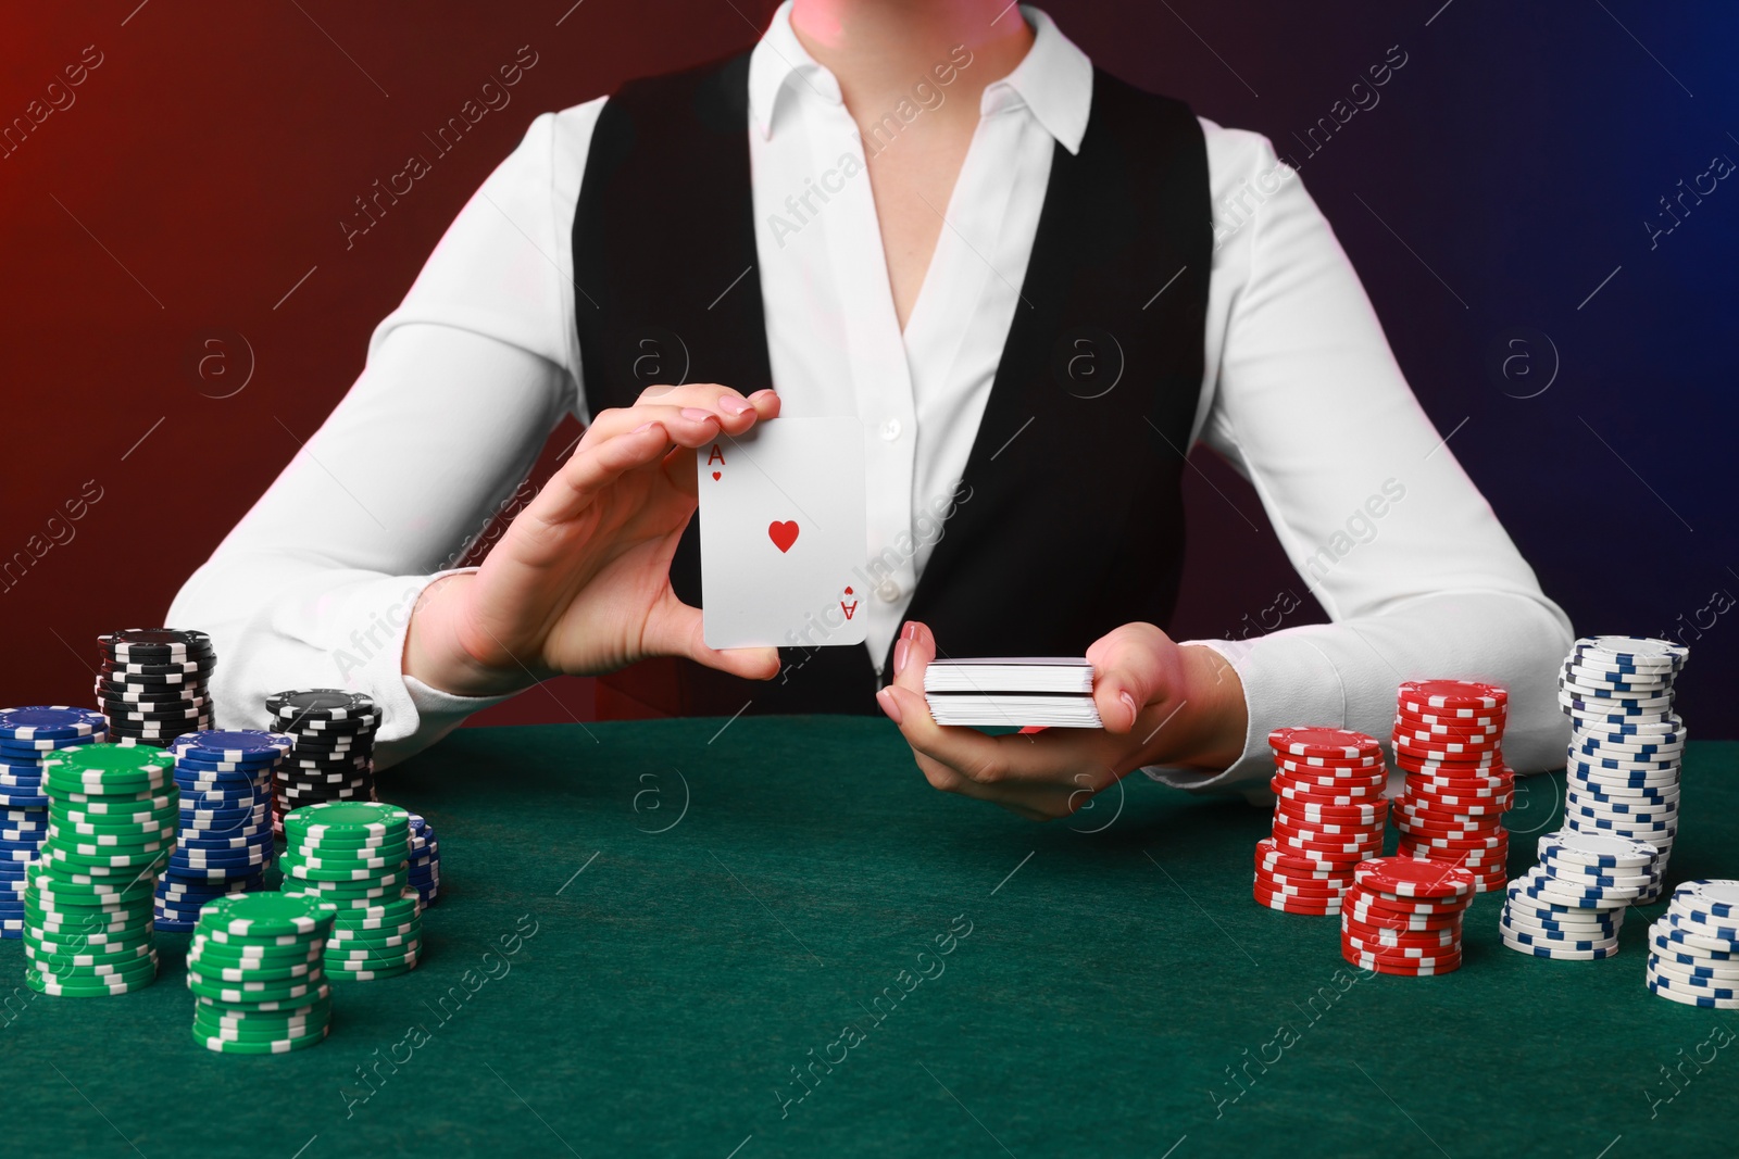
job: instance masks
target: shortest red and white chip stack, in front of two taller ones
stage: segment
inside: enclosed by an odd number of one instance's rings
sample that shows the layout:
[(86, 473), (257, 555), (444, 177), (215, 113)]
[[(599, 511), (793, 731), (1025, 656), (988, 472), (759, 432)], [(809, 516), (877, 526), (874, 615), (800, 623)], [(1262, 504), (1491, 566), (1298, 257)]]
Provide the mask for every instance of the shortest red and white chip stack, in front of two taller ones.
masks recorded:
[(1476, 881), (1466, 869), (1374, 857), (1341, 904), (1341, 956), (1360, 970), (1424, 977), (1461, 966), (1461, 916)]

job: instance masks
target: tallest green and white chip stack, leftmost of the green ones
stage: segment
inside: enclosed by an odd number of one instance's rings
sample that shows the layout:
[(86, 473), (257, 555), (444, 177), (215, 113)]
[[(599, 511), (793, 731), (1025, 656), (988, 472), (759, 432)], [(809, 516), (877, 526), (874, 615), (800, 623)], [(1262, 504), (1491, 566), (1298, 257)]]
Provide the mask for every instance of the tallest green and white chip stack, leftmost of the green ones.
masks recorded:
[(176, 758), (89, 744), (43, 761), (49, 827), (24, 878), (24, 985), (103, 997), (157, 980), (153, 895), (176, 848)]

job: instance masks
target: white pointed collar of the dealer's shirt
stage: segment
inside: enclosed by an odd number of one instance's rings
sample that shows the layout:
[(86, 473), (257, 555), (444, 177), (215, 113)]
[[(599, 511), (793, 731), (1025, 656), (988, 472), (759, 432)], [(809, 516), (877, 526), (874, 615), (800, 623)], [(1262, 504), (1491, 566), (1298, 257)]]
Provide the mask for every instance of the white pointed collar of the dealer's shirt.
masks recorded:
[[(1092, 108), (1092, 61), (1038, 9), (1023, 3), (1021, 16), (1033, 30), (1033, 47), (1012, 73), (984, 89), (979, 115), (1024, 106), (1063, 148), (1078, 153)], [(763, 139), (772, 137), (779, 103), (796, 87), (830, 104), (842, 101), (840, 82), (791, 31), (791, 0), (784, 0), (750, 54), (750, 111)]]

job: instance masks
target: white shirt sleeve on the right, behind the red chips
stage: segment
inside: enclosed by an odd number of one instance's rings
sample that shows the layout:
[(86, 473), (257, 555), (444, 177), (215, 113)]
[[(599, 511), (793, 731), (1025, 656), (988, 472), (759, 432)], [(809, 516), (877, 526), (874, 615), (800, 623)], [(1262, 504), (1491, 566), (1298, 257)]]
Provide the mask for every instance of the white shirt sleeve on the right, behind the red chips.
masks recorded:
[(1334, 622), (1191, 641), (1243, 681), (1243, 754), (1219, 773), (1149, 775), (1266, 794), (1273, 728), (1355, 728), (1388, 747), (1396, 685), (1438, 676), (1504, 685), (1509, 765), (1562, 765), (1569, 619), (1421, 410), (1303, 181), (1266, 137), (1203, 130), (1216, 252), (1198, 436), (1256, 487)]

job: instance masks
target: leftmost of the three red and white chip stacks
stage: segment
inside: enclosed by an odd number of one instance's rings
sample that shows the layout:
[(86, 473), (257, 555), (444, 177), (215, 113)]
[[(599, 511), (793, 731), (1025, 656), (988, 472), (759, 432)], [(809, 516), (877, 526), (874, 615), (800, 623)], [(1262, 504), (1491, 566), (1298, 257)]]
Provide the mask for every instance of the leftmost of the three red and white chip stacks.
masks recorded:
[(1383, 853), (1383, 747), (1344, 728), (1276, 728), (1268, 744), (1275, 827), (1256, 843), (1256, 900), (1287, 914), (1339, 914), (1353, 871)]

